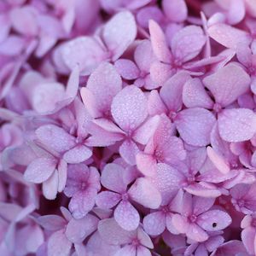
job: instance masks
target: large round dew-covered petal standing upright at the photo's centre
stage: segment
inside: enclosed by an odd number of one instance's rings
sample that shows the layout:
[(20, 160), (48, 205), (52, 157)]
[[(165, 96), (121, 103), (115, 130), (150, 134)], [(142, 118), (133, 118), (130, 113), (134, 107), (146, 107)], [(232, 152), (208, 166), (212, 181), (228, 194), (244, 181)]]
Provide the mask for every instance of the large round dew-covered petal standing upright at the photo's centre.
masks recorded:
[(143, 91), (134, 85), (126, 86), (113, 98), (113, 119), (124, 131), (134, 131), (148, 115)]

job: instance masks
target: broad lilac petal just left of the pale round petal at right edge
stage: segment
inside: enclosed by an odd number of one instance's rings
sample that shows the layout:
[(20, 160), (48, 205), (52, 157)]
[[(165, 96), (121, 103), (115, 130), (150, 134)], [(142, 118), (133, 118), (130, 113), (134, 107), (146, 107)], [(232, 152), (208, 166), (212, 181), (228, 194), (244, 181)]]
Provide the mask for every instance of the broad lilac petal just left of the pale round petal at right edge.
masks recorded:
[(210, 143), (210, 133), (216, 120), (204, 108), (188, 108), (177, 114), (174, 123), (185, 143), (206, 146)]

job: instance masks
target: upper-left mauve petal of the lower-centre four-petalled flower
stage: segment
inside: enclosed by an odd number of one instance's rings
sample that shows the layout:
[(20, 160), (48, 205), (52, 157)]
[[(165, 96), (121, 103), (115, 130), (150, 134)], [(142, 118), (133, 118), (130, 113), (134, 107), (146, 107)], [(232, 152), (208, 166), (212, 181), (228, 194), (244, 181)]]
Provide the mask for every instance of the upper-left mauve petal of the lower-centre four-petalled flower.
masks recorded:
[(117, 164), (108, 164), (102, 171), (101, 183), (102, 185), (115, 192), (123, 193), (126, 189), (124, 182), (124, 168)]

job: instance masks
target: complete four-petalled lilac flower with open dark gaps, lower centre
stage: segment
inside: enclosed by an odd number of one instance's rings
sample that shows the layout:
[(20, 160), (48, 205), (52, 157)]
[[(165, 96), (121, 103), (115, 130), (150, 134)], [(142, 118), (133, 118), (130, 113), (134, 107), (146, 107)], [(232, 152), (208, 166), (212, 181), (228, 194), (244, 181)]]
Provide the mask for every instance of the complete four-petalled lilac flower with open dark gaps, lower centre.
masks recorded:
[(102, 171), (102, 186), (110, 191), (102, 191), (96, 198), (96, 205), (103, 209), (114, 209), (113, 216), (124, 230), (136, 230), (140, 221), (137, 209), (131, 205), (135, 201), (143, 207), (156, 209), (160, 206), (161, 196), (157, 189), (145, 178), (137, 181), (127, 189), (124, 180), (125, 170), (116, 164), (108, 164)]

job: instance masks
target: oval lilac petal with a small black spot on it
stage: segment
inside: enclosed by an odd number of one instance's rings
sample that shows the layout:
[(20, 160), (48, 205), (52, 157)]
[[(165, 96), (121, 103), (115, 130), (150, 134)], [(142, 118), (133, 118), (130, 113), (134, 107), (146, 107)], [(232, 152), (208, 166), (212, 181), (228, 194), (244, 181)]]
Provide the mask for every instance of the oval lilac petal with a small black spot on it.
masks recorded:
[(221, 210), (212, 210), (202, 213), (197, 218), (197, 224), (207, 231), (224, 230), (232, 222), (230, 215)]

